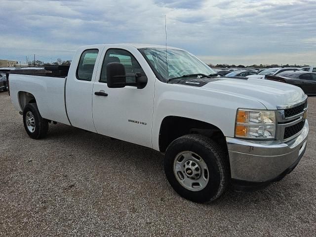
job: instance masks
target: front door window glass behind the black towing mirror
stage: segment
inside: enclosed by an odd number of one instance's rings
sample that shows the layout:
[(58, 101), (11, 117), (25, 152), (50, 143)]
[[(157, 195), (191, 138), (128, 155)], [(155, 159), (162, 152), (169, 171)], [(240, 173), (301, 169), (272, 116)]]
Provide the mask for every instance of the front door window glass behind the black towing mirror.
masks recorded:
[[(109, 49), (104, 57), (100, 82), (107, 82), (107, 65), (108, 63), (121, 63), (124, 65), (126, 74), (141, 73), (145, 76), (144, 70), (141, 68), (135, 57), (128, 51), (123, 49)], [(127, 83), (135, 83), (135, 77), (127, 77)]]

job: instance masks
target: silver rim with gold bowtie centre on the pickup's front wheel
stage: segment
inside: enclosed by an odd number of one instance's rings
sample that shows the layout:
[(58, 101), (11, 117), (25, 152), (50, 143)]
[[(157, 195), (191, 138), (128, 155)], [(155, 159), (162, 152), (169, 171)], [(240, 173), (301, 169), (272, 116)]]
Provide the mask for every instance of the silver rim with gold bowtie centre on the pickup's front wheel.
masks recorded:
[(175, 157), (173, 173), (181, 186), (190, 191), (200, 191), (209, 182), (209, 172), (205, 161), (191, 151), (180, 152)]

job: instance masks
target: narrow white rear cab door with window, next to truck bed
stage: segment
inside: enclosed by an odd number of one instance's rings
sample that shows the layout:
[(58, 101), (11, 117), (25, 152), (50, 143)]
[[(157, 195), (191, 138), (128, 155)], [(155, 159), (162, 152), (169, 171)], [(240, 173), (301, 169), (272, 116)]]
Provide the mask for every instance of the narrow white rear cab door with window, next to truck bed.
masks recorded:
[(92, 118), (92, 89), (103, 48), (104, 45), (93, 45), (78, 50), (66, 85), (66, 106), (71, 124), (92, 132), (96, 132)]

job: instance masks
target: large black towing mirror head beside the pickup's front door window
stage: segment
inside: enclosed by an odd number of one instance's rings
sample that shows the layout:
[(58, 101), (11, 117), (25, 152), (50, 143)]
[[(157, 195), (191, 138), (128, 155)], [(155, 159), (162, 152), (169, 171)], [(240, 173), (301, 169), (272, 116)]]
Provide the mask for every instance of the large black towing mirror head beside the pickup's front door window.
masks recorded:
[(125, 87), (126, 75), (123, 64), (109, 63), (107, 65), (107, 84), (109, 88)]

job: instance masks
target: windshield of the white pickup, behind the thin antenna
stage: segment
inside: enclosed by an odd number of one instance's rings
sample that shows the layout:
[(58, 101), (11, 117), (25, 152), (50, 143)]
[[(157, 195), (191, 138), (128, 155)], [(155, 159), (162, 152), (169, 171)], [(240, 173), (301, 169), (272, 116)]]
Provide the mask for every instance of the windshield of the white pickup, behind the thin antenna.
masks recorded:
[[(209, 66), (185, 50), (168, 48), (167, 54), (165, 48), (141, 48), (139, 51), (150, 64), (158, 79), (164, 82), (167, 82), (168, 79), (190, 74), (215, 74)], [(166, 68), (166, 56), (168, 70)]]

